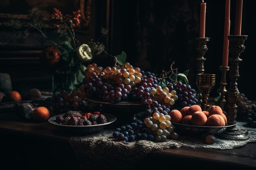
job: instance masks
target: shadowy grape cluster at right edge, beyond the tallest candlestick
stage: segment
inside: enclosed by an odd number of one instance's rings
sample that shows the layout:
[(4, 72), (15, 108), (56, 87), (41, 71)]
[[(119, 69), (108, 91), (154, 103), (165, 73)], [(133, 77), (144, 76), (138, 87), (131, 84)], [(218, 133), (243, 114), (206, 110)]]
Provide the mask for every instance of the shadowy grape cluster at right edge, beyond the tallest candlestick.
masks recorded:
[(249, 126), (256, 128), (256, 105), (252, 104), (243, 93), (239, 94), (236, 105), (238, 106), (238, 114), (246, 119)]

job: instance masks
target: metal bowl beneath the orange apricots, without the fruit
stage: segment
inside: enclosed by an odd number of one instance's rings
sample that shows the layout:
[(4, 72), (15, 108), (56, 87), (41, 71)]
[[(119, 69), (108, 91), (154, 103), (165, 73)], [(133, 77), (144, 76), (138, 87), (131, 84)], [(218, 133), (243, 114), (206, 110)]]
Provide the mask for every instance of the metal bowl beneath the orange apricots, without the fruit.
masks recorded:
[(220, 132), (228, 127), (236, 125), (236, 124), (233, 124), (228, 126), (194, 126), (194, 125), (178, 124), (174, 122), (171, 122), (171, 123), (175, 127), (175, 132), (177, 132), (179, 135), (198, 136), (198, 137), (200, 137), (203, 133), (209, 133), (211, 135), (214, 135), (217, 132)]

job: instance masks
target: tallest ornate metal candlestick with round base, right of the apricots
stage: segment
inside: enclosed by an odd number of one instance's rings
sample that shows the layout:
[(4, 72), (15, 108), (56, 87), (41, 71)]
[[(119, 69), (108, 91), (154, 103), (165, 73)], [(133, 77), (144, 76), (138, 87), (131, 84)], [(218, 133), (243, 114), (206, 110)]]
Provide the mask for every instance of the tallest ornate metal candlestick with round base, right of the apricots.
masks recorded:
[(239, 62), (242, 59), (239, 58), (240, 54), (245, 50), (244, 42), (247, 39), (247, 35), (229, 35), (229, 51), (232, 53), (233, 57), (229, 59), (230, 62), (230, 72), (229, 77), (231, 79), (228, 98), (229, 104), (229, 119), (228, 125), (234, 125), (228, 127), (224, 132), (222, 132), (219, 137), (227, 140), (236, 140), (244, 141), (249, 139), (247, 131), (240, 130), (236, 128), (236, 115), (237, 115), (237, 106), (236, 102), (238, 100), (239, 91), (237, 88), (236, 80), (239, 77)]

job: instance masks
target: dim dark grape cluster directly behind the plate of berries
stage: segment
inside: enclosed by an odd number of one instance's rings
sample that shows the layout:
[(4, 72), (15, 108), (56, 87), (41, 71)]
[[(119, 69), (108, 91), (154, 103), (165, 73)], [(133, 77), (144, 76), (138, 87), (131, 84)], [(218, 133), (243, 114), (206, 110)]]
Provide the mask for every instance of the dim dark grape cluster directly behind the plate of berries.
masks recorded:
[(84, 91), (74, 90), (71, 94), (61, 91), (59, 95), (54, 96), (52, 108), (56, 114), (67, 113), (69, 110), (87, 112), (89, 107), (83, 99)]

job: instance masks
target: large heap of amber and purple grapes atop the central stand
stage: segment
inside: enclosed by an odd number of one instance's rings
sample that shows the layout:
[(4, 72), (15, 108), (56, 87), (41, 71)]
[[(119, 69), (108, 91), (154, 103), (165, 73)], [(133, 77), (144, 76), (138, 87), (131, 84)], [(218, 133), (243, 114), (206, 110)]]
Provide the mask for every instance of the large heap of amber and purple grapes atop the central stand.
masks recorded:
[[(116, 103), (138, 93), (136, 84), (141, 83), (144, 72), (133, 68), (128, 62), (125, 66), (102, 68), (97, 64), (89, 64), (85, 70), (84, 90), (88, 97)], [(139, 98), (139, 97), (137, 97)]]

